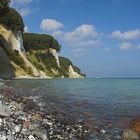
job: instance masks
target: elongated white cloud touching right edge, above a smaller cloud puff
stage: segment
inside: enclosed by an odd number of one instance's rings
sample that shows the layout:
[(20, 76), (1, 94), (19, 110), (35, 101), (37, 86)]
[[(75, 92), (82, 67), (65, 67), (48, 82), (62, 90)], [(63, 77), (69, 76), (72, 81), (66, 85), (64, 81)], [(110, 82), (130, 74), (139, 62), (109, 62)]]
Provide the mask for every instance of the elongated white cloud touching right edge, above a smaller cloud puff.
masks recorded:
[(130, 30), (126, 32), (121, 32), (117, 30), (112, 33), (112, 37), (116, 39), (121, 39), (121, 40), (137, 39), (137, 38), (140, 38), (140, 30), (136, 29), (136, 30)]

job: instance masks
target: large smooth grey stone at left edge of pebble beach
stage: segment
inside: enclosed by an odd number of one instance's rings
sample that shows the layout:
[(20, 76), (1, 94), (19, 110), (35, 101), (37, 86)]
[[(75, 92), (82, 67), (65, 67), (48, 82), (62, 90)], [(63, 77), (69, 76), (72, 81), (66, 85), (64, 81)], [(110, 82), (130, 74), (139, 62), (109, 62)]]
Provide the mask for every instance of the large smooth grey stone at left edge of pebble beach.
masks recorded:
[(5, 105), (0, 105), (0, 117), (10, 117), (10, 115), (11, 110)]

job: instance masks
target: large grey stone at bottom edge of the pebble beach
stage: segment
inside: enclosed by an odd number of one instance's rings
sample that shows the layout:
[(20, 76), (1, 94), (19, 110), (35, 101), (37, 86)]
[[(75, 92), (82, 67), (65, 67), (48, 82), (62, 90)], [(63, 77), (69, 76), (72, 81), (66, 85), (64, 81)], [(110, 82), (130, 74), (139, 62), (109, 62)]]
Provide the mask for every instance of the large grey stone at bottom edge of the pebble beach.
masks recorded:
[(49, 140), (45, 129), (37, 131), (35, 133), (35, 136), (40, 138), (41, 140)]

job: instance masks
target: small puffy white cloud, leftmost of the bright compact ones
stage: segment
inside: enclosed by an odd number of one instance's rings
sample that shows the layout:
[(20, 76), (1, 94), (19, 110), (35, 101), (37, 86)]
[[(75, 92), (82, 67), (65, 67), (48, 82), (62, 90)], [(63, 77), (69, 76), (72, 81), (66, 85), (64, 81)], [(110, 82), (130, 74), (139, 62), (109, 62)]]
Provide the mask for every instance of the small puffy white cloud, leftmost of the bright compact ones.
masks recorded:
[(43, 19), (40, 28), (44, 31), (55, 31), (61, 29), (63, 24), (55, 19)]

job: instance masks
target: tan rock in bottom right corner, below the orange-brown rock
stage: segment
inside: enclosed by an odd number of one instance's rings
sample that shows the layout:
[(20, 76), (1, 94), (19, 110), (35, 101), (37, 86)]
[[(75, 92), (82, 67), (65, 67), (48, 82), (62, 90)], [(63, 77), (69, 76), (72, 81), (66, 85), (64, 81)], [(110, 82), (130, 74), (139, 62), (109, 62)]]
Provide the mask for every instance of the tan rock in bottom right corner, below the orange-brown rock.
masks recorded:
[(123, 140), (139, 140), (139, 136), (133, 130), (124, 130), (122, 134)]

